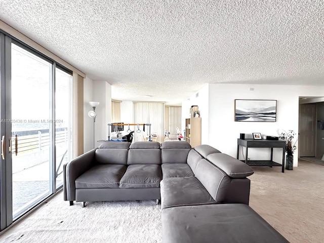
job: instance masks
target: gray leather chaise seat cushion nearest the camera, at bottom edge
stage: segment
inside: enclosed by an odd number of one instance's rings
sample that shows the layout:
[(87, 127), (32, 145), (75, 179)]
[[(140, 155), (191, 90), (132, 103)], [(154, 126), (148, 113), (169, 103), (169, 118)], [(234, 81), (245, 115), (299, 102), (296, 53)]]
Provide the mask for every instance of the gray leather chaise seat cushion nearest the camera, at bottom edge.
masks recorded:
[(245, 204), (169, 208), (161, 219), (163, 243), (289, 243)]

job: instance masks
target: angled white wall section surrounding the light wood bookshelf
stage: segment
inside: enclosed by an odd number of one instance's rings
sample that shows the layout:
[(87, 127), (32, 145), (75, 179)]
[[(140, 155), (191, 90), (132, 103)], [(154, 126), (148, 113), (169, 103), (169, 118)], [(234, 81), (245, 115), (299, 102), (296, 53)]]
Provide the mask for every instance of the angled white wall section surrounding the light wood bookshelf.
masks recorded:
[[(197, 93), (198, 97), (196, 97)], [(197, 105), (200, 111), (201, 144), (209, 144), (209, 85), (204, 86), (194, 93), (189, 99), (182, 102), (182, 133), (185, 129), (185, 119), (190, 118), (190, 107), (192, 105)]]

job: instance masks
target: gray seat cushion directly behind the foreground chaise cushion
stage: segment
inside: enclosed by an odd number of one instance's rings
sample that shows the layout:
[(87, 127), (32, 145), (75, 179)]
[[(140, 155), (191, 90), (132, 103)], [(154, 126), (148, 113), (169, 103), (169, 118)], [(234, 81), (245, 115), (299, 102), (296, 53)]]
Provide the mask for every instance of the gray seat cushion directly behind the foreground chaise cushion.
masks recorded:
[(161, 208), (185, 205), (216, 204), (206, 188), (195, 177), (166, 178), (161, 185)]

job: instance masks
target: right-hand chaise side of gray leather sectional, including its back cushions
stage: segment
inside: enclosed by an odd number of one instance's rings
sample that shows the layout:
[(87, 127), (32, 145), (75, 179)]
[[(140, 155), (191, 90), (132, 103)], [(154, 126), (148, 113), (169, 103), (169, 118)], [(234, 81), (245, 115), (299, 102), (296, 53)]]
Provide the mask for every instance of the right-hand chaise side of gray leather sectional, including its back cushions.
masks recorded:
[(193, 177), (160, 183), (163, 243), (289, 242), (248, 206), (249, 166), (208, 145), (190, 150), (188, 165)]

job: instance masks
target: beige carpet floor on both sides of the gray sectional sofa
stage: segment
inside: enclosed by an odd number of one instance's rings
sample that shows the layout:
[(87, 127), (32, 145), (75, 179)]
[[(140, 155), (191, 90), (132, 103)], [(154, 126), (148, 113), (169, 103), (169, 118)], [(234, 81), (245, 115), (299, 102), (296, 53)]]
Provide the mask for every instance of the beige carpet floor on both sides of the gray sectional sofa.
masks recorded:
[[(324, 166), (254, 168), (250, 206), (292, 243), (324, 242)], [(161, 242), (155, 201), (68, 206), (63, 194), (0, 235), (0, 242)], [(261, 243), (261, 242), (260, 242)]]

